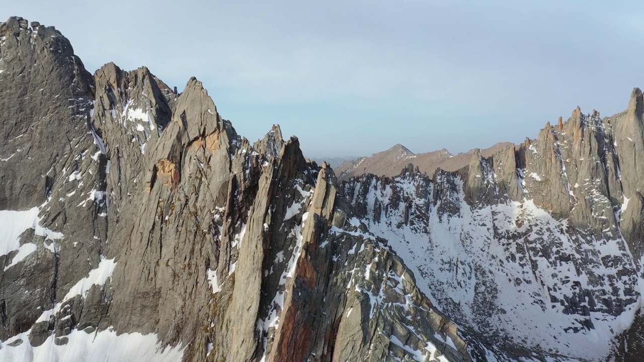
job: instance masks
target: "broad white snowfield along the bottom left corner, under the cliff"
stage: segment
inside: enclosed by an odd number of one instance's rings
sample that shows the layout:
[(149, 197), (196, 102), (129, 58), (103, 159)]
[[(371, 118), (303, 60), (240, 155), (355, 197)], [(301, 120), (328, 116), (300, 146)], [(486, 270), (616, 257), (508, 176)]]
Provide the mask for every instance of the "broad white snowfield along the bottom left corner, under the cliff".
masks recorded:
[[(123, 333), (112, 329), (87, 333), (73, 330), (66, 345), (56, 345), (50, 336), (43, 345), (33, 347), (29, 343), (29, 331), (0, 343), (0, 361), (13, 362), (178, 362), (184, 356), (184, 348), (164, 347), (155, 334)], [(22, 339), (16, 347), (8, 344)]]

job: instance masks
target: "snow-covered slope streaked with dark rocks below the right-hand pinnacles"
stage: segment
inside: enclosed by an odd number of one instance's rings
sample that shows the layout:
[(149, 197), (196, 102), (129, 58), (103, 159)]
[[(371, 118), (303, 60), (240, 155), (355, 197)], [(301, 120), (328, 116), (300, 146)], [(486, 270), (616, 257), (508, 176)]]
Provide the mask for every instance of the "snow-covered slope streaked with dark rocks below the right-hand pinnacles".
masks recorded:
[[(619, 235), (580, 235), (529, 199), (472, 208), (456, 175), (437, 175), (453, 192), (436, 202), (425, 176), (367, 179), (365, 194), (365, 184), (345, 185), (364, 202), (361, 220), (435, 305), (491, 345), (526, 356), (607, 356), (640, 307), (638, 267)], [(457, 213), (441, 213), (442, 202)]]

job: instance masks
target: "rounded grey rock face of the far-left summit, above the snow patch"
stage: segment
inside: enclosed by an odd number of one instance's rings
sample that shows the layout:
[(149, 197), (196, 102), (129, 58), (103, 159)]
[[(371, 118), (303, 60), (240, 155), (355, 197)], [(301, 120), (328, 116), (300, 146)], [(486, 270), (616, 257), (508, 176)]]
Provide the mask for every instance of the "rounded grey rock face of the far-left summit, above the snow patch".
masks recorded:
[(50, 196), (52, 173), (82, 141), (74, 136), (86, 131), (78, 120), (89, 111), (91, 75), (53, 27), (30, 28), (26, 20), (12, 18), (0, 34), (0, 209), (33, 207)]

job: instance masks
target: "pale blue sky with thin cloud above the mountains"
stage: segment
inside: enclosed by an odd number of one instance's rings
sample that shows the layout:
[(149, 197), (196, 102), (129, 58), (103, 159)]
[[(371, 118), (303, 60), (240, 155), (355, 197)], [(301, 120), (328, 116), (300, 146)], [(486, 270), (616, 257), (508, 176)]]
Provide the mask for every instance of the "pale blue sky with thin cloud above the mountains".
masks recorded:
[(31, 0), (11, 15), (55, 26), (90, 72), (197, 77), (240, 135), (279, 124), (307, 157), (518, 143), (644, 87), (635, 1)]

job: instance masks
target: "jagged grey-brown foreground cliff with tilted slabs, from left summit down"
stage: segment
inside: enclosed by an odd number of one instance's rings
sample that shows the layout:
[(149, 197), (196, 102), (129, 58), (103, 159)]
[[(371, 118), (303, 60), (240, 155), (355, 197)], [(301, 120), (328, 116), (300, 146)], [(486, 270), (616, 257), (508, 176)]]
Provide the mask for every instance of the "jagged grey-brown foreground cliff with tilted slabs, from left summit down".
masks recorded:
[(297, 138), (21, 18), (0, 58), (1, 360), (471, 360)]

